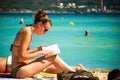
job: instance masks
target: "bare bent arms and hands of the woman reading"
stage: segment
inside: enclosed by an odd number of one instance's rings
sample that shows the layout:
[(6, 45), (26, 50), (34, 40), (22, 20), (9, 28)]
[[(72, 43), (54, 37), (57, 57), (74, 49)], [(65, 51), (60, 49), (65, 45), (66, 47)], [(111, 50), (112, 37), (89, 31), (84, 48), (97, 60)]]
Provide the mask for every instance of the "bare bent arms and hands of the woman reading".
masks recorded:
[(19, 47), (19, 51), (18, 51), (19, 62), (24, 62), (26, 60), (33, 59), (39, 56), (40, 54), (44, 54), (45, 57), (55, 55), (54, 51), (42, 51), (40, 49), (41, 47), (37, 47), (35, 49), (27, 51), (27, 47), (30, 41), (31, 41), (31, 32), (23, 33), (21, 46)]

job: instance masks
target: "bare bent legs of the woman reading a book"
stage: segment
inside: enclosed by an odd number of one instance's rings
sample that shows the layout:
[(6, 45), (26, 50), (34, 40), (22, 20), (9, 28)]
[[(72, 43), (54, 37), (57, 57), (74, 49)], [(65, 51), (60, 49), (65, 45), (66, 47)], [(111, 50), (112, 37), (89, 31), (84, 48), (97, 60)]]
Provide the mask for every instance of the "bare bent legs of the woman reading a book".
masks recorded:
[[(53, 66), (51, 68), (52, 73), (59, 73), (62, 71), (66, 71), (66, 72), (76, 71), (75, 67), (74, 68), (70, 67), (56, 55), (56, 56), (52, 56), (49, 58), (44, 58), (44, 57), (38, 58), (34, 62), (20, 68), (16, 77), (17, 78), (32, 77), (33, 75), (46, 69), (48, 66)], [(47, 69), (46, 69), (46, 71), (47, 71)]]

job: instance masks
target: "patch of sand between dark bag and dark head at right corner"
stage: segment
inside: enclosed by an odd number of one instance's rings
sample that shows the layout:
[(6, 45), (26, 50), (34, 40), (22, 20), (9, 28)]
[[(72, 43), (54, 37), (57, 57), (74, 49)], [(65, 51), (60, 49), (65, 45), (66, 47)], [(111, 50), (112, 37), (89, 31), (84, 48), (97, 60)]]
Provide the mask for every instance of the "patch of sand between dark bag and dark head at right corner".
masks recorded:
[(99, 78), (99, 80), (107, 80), (108, 73), (112, 69), (103, 69), (103, 68), (93, 68), (88, 69), (88, 71), (92, 72), (92, 74)]

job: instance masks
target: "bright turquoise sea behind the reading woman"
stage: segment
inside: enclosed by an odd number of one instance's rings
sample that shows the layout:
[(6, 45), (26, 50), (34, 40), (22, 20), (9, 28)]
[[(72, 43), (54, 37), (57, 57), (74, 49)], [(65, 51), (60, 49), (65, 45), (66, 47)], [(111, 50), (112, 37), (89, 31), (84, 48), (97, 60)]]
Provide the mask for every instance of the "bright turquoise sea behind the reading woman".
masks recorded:
[[(52, 27), (45, 35), (33, 35), (31, 48), (58, 44), (59, 56), (69, 65), (86, 68), (120, 68), (120, 14), (48, 14)], [(0, 57), (11, 55), (9, 47), (19, 29), (33, 22), (30, 13), (0, 13)], [(20, 19), (24, 24), (19, 24)], [(89, 30), (90, 36), (85, 36)]]

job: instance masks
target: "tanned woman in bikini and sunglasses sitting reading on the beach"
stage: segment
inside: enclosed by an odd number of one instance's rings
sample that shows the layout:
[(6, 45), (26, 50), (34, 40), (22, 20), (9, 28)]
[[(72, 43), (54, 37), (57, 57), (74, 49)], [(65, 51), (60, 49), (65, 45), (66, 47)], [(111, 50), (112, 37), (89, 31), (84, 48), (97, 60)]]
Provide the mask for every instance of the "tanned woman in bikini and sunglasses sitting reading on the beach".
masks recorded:
[[(34, 33), (37, 35), (45, 34), (51, 26), (50, 18), (43, 9), (40, 9), (34, 16), (33, 24), (18, 31), (11, 45), (11, 76), (13, 78), (30, 78), (40, 71), (60, 73), (84, 69), (82, 65), (70, 67), (52, 50), (42, 50), (43, 46), (48, 45), (42, 45), (33, 49), (29, 48), (32, 35)], [(39, 55), (43, 56), (36, 58)]]

